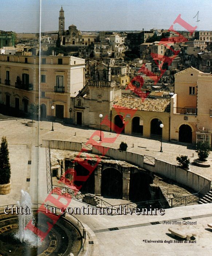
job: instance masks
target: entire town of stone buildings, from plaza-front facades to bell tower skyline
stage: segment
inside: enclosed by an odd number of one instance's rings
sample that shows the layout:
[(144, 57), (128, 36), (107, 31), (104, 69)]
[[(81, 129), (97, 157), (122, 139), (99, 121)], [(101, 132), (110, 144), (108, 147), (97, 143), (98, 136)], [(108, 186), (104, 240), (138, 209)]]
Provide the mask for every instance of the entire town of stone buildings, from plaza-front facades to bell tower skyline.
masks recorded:
[[(64, 13), (58, 30), (41, 33), (41, 118), (55, 105), (55, 120), (99, 129), (99, 114), (109, 115), (146, 138), (162, 135), (161, 121), (165, 140), (211, 144), (212, 31), (66, 30)], [(0, 47), (1, 112), (27, 116), (38, 104), (39, 34), (1, 30)]]

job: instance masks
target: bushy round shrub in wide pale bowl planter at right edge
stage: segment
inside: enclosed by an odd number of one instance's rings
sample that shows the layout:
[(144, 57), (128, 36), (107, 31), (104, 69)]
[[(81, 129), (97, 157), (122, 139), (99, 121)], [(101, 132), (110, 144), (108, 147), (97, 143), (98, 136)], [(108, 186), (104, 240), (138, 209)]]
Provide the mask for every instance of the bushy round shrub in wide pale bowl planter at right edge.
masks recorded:
[(195, 159), (194, 162), (197, 166), (201, 167), (209, 167), (209, 163), (207, 161), (208, 155), (210, 153), (210, 145), (208, 142), (198, 142), (196, 146), (196, 151), (198, 155), (198, 159)]

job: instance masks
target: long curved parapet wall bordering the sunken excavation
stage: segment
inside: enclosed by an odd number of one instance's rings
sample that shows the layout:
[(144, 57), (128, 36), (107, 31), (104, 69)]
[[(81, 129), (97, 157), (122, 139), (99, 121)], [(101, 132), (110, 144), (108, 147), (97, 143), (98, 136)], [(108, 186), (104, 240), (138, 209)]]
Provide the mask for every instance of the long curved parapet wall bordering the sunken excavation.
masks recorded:
[[(89, 144), (91, 145), (91, 144)], [(43, 147), (56, 148), (61, 150), (82, 151), (82, 143), (70, 142), (65, 140), (48, 140), (43, 139)], [(85, 147), (84, 147), (85, 148)], [(170, 178), (182, 185), (192, 188), (196, 192), (207, 193), (211, 190), (211, 180), (195, 174), (189, 170), (183, 170), (176, 165), (166, 163), (159, 159), (152, 158), (152, 162), (145, 161), (144, 155), (131, 153), (127, 151), (120, 151), (115, 148), (103, 147), (98, 145), (91, 145), (92, 151), (89, 153), (97, 155), (105, 155), (117, 160), (126, 161), (137, 165), (138, 167), (147, 169), (156, 174)], [(85, 150), (83, 150), (85, 152)]]

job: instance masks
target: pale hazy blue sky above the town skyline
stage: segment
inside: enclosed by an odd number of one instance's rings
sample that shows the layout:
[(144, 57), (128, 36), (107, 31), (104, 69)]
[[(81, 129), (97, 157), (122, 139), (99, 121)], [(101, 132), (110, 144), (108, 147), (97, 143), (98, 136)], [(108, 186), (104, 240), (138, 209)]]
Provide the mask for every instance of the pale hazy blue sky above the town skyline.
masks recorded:
[[(181, 14), (197, 30), (212, 30), (212, 0), (42, 0), (42, 31), (58, 30), (61, 5), (65, 29), (169, 29)], [(0, 30), (39, 32), (40, 0), (0, 0), (0, 8)], [(199, 22), (193, 18), (197, 11)]]

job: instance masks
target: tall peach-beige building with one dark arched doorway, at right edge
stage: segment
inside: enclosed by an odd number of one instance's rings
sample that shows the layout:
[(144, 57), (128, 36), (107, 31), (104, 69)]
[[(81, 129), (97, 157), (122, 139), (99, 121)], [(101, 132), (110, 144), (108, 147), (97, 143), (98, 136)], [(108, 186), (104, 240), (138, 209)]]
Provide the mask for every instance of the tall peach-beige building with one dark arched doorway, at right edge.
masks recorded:
[(170, 139), (197, 143), (212, 139), (212, 75), (190, 67), (175, 74)]

